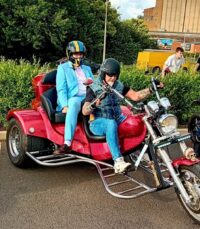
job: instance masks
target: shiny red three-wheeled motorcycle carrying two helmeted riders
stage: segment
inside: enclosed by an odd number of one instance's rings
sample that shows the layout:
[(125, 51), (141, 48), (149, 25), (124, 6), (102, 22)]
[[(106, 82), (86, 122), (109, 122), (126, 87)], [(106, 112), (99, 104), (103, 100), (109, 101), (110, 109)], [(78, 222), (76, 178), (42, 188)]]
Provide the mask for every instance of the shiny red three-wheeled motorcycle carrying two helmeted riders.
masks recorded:
[[(152, 78), (156, 101), (137, 106), (112, 87), (102, 85), (102, 97), (115, 93), (122, 100), (122, 112), (127, 116), (119, 126), (120, 149), (132, 167), (124, 174), (115, 174), (112, 156), (104, 136), (94, 136), (88, 125), (88, 116), (80, 115), (72, 142), (72, 153), (53, 155), (63, 143), (65, 114), (56, 112), (56, 71), (40, 74), (33, 79), (35, 99), (31, 109), (11, 110), (7, 115), (7, 151), (17, 167), (28, 166), (30, 161), (44, 166), (58, 166), (78, 162), (96, 166), (105, 189), (113, 196), (130, 199), (174, 186), (187, 213), (200, 223), (200, 160), (181, 136), (178, 121), (168, 111), (168, 98), (160, 98)], [(172, 159), (169, 146), (179, 145), (181, 157)], [(137, 179), (136, 172), (144, 169), (152, 183)]]

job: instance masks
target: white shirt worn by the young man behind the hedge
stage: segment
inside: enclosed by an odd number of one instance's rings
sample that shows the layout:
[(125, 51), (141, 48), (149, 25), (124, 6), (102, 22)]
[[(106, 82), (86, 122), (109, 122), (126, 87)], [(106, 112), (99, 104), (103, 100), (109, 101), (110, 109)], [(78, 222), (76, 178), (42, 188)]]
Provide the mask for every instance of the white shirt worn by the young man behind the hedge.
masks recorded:
[(184, 57), (177, 59), (175, 54), (169, 56), (167, 60), (165, 61), (165, 65), (169, 67), (169, 70), (173, 73), (178, 72), (181, 65), (183, 65), (184, 63), (185, 63)]

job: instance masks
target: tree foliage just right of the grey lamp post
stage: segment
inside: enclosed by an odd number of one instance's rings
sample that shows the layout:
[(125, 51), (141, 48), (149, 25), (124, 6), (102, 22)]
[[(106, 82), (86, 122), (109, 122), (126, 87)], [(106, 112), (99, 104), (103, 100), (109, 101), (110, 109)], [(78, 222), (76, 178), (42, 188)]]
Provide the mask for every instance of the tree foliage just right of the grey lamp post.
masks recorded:
[(108, 37), (108, 55), (115, 56), (120, 62), (133, 64), (139, 51), (156, 47), (141, 19), (118, 22), (116, 28), (114, 37)]

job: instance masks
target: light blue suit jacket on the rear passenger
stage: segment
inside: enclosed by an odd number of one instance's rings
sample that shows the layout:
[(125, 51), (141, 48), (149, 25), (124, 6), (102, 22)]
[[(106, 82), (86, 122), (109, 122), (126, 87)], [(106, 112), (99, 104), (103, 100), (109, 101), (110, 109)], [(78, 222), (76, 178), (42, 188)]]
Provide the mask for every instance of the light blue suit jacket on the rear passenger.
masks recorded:
[[(91, 68), (86, 65), (81, 65), (86, 78), (94, 79)], [(57, 111), (61, 111), (63, 107), (68, 105), (68, 99), (78, 93), (78, 80), (73, 69), (72, 62), (67, 61), (60, 64), (56, 75), (56, 90), (57, 90)]]

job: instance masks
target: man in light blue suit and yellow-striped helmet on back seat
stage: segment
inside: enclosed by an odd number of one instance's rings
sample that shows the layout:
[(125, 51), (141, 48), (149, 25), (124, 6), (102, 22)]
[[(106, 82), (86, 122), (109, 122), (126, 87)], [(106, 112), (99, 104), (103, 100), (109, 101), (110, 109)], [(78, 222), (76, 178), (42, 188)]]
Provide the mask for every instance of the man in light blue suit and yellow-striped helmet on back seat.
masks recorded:
[(68, 61), (58, 66), (56, 89), (58, 94), (57, 111), (66, 113), (64, 142), (54, 154), (70, 151), (74, 137), (81, 102), (86, 95), (84, 82), (93, 80), (91, 68), (83, 64), (86, 48), (81, 41), (71, 41), (67, 46)]

